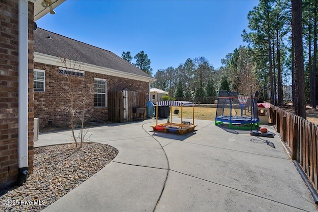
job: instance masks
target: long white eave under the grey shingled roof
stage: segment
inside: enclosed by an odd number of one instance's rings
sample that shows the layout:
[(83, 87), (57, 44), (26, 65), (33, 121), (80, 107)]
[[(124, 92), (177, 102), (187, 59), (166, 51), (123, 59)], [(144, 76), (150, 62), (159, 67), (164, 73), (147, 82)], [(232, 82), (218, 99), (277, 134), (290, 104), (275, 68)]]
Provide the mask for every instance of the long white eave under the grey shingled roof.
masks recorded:
[[(34, 62), (48, 64), (48, 65), (57, 66), (57, 67), (64, 67), (60, 58), (56, 56), (52, 56), (52, 55), (38, 53), (38, 52), (34, 52)], [(118, 77), (135, 79), (135, 80), (145, 81), (145, 82), (152, 82), (156, 80), (153, 77), (141, 76), (134, 73), (127, 73), (124, 71), (108, 69), (108, 68), (95, 66), (91, 64), (85, 64), (85, 63), (81, 63), (81, 68), (82, 68), (82, 71), (101, 73), (101, 74), (106, 74), (110, 76), (118, 76)]]

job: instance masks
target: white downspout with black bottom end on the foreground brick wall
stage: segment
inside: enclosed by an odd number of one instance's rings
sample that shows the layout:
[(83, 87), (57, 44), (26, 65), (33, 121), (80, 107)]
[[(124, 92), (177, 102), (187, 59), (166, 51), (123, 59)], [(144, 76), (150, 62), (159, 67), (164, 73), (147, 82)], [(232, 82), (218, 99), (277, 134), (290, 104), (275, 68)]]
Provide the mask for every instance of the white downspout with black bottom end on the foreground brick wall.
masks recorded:
[(28, 0), (19, 0), (19, 27), (18, 27), (18, 41), (19, 41), (19, 87), (18, 87), (18, 167), (19, 178), (18, 185), (26, 182), (29, 167), (28, 167), (28, 72), (29, 72), (29, 48), (28, 48)]

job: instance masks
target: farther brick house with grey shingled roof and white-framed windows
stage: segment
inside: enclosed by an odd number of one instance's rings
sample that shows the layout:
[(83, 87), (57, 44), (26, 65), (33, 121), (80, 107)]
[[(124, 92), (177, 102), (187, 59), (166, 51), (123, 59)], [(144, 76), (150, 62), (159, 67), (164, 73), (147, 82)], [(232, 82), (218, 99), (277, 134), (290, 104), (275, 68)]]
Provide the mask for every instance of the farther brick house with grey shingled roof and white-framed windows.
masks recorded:
[[(65, 60), (67, 67), (62, 63)], [(110, 51), (38, 28), (34, 32), (34, 117), (39, 118), (40, 128), (70, 124), (69, 113), (62, 109), (69, 104), (62, 95), (68, 74), (94, 87), (87, 111), (87, 121), (94, 122), (108, 121), (108, 91), (139, 91), (149, 96), (155, 80)]]

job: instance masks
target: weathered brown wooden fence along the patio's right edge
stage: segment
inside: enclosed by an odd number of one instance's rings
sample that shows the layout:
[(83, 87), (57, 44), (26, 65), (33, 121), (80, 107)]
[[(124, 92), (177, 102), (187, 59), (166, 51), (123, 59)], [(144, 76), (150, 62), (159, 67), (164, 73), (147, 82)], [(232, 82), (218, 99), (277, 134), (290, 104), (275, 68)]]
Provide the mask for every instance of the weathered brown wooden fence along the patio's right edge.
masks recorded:
[(318, 125), (271, 105), (269, 119), (318, 191)]

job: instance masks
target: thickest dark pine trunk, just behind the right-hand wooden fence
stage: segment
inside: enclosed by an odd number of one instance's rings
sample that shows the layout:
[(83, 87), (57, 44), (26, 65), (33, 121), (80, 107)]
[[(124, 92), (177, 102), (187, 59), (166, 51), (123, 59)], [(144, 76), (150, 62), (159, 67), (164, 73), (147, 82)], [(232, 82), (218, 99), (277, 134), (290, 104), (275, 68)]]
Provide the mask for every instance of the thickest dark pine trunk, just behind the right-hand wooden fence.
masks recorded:
[(302, 34), (302, 0), (292, 1), (292, 28), (295, 45), (295, 114), (306, 119), (305, 73)]

